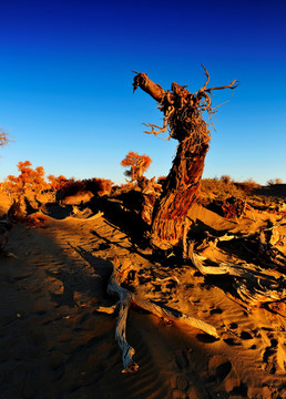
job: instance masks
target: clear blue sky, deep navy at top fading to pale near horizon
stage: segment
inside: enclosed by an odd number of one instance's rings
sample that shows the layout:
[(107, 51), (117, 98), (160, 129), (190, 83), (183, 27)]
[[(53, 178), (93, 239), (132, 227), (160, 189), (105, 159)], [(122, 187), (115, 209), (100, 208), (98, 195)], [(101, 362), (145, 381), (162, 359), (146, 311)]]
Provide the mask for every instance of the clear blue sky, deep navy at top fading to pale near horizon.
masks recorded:
[(29, 160), (47, 174), (124, 182), (129, 151), (166, 175), (176, 142), (144, 134), (162, 123), (132, 70), (164, 89), (241, 81), (215, 119), (204, 177), (286, 182), (286, 1), (0, 0), (0, 181)]

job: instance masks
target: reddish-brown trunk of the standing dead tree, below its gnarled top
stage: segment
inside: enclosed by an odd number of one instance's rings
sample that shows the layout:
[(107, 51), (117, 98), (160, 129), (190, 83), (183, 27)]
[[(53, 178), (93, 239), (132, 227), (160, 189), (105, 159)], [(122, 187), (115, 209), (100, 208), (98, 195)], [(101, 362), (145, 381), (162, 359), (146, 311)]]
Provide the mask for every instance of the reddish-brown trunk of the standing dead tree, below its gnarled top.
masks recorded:
[(204, 140), (194, 146), (194, 136), (191, 134), (180, 142), (162, 195), (154, 207), (151, 231), (153, 247), (165, 250), (182, 244), (186, 215), (198, 197), (208, 151), (208, 131), (205, 122), (200, 122), (196, 129)]

